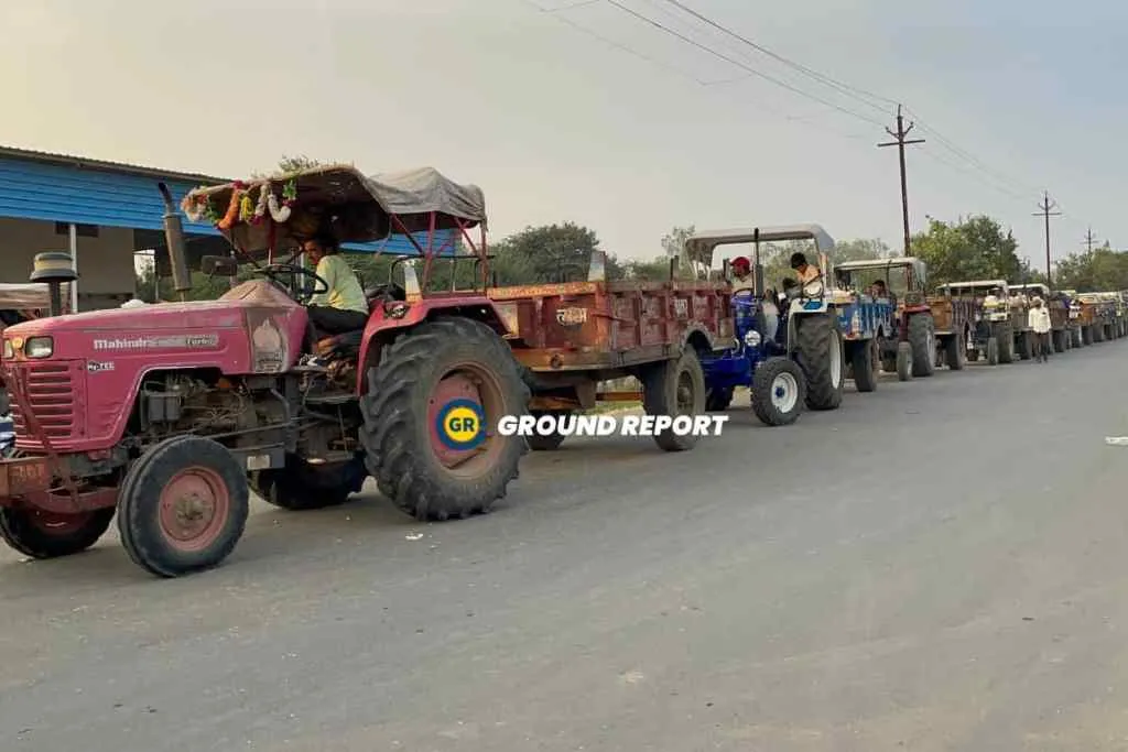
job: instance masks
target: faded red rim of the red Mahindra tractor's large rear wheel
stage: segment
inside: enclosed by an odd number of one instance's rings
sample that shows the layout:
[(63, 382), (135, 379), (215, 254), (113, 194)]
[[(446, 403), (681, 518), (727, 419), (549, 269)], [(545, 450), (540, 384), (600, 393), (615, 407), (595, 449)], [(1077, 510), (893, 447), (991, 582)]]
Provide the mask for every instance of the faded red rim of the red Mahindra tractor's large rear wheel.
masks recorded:
[[(442, 426), (451, 402), (473, 406), (479, 431), (466, 441), (451, 441)], [(504, 409), (501, 383), (493, 372), (477, 363), (459, 363), (447, 370), (431, 392), (428, 404), (431, 451), (448, 472), (473, 478), (492, 467), (504, 444), (494, 428)]]

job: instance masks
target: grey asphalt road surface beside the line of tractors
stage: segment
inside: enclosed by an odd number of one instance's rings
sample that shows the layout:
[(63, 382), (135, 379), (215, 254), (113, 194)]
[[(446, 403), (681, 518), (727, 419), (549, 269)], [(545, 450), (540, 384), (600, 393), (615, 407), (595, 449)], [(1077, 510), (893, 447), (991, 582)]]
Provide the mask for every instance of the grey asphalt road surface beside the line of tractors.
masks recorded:
[(1128, 749), (1126, 373), (566, 442), (464, 522), (258, 504), (177, 581), (5, 550), (0, 750)]

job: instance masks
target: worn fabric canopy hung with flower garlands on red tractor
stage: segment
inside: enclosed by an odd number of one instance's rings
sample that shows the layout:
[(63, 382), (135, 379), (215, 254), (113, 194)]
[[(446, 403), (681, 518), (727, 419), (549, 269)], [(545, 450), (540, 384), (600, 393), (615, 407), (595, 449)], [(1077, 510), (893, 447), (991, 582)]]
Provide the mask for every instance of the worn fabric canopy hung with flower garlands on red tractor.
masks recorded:
[(430, 167), (372, 176), (349, 165), (314, 167), (195, 188), (180, 207), (193, 220), (212, 220), (246, 254), (293, 247), (326, 231), (342, 244), (372, 242), (396, 233), (484, 230), (486, 223), (482, 189)]

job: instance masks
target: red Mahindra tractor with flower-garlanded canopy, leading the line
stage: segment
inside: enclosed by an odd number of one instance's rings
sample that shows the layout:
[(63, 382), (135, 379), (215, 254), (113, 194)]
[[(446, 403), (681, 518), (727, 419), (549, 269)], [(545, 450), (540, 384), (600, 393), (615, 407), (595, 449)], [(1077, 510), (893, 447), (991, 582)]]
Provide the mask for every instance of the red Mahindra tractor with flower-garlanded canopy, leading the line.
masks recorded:
[[(160, 189), (183, 293), (180, 219)], [(231, 552), (252, 487), (274, 505), (308, 510), (344, 502), (371, 475), (420, 520), (482, 513), (504, 496), (528, 445), (493, 426), (523, 415), (529, 390), (485, 294), (481, 189), (431, 169), (370, 178), (334, 166), (200, 188), (182, 205), (211, 218), (236, 257), (271, 263), (215, 301), (3, 331), (17, 450), (0, 462), (9, 546), (36, 558), (74, 554), (116, 510), (130, 557), (173, 577)], [(403, 284), (369, 291), (364, 328), (321, 336), (306, 303), (327, 283), (293, 257), (273, 259), (325, 232), (343, 244), (406, 236), (422, 281), (414, 259), (397, 259)], [(440, 236), (450, 239), (440, 245)], [(438, 262), (459, 258), (475, 268), (474, 291), (422, 292)], [(204, 260), (212, 272), (235, 267)], [(325, 353), (327, 363), (310, 360)]]

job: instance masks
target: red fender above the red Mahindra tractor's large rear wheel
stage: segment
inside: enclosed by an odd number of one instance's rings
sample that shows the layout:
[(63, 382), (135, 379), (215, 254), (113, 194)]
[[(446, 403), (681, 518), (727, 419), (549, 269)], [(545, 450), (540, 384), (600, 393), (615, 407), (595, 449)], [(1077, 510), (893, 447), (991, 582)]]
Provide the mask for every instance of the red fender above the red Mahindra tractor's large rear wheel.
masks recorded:
[(368, 388), (368, 370), (380, 362), (380, 350), (384, 345), (395, 339), (400, 331), (412, 329), (425, 321), (447, 316), (459, 316), (482, 321), (496, 331), (499, 337), (514, 334), (494, 301), (483, 295), (423, 298), (402, 304), (406, 307), (406, 311), (400, 316), (389, 313), (384, 306), (374, 306), (371, 316), (369, 316), (358, 355), (360, 363), (360, 378), (356, 380), (358, 395), (363, 395)]

